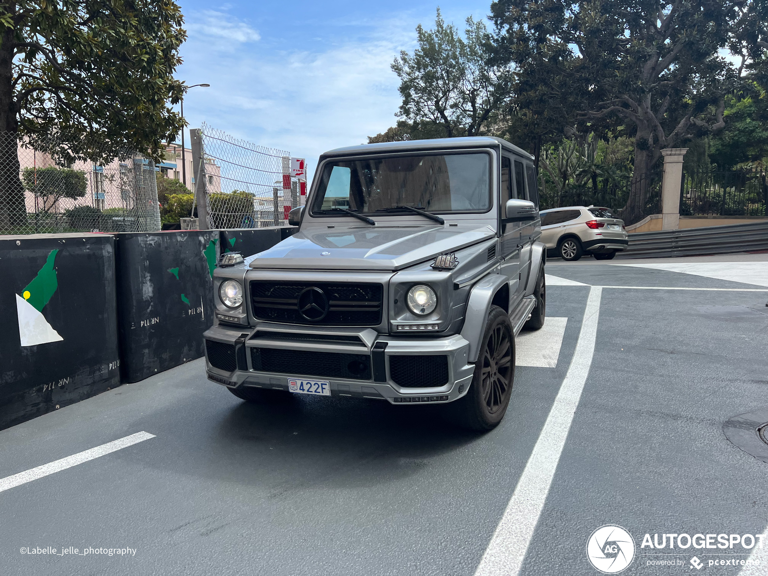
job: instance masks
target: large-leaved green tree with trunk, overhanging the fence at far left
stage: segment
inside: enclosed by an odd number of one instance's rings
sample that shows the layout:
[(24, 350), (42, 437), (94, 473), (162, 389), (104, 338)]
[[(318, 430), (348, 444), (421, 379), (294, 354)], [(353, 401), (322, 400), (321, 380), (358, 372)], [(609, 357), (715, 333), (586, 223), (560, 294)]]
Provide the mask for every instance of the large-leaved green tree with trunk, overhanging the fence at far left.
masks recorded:
[(173, 0), (0, 4), (0, 228), (25, 218), (17, 139), (55, 160), (159, 159), (186, 38)]

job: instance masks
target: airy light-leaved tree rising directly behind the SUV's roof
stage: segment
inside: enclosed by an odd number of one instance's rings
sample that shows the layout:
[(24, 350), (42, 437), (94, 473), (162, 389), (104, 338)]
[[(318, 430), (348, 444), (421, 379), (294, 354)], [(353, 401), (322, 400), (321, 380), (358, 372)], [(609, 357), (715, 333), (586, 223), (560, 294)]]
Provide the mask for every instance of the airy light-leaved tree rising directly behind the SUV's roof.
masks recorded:
[(402, 51), (392, 63), (400, 78), (400, 118), (438, 125), (447, 137), (489, 130), (509, 98), (511, 68), (495, 63), (485, 24), (472, 18), (466, 24), (462, 38), (458, 28), (445, 25), (438, 9), (434, 30), (416, 28), (419, 47), (413, 54)]

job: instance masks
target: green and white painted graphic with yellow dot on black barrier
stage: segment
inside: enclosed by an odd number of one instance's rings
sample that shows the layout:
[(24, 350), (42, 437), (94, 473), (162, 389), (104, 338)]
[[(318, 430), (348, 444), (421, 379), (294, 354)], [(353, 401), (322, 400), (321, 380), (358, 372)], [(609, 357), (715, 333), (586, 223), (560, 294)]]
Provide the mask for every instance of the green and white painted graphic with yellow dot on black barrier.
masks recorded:
[(21, 296), (16, 294), (18, 336), (22, 346), (63, 340), (42, 314), (43, 308), (58, 289), (54, 267), (57, 253), (58, 250), (51, 250), (37, 276), (24, 287)]

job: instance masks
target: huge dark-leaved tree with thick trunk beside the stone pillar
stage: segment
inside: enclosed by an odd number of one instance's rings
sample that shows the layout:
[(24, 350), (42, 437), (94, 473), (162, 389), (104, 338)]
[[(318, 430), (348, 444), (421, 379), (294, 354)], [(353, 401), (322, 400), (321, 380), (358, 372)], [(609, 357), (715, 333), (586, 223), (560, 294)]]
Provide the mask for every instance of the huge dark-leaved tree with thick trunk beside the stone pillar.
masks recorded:
[[(498, 0), (492, 13), (507, 58), (521, 66), (518, 82), (542, 91), (584, 128), (623, 126), (634, 136), (634, 177), (642, 182), (663, 148), (725, 126), (725, 96), (740, 79), (718, 51), (729, 45), (747, 4)], [(537, 54), (556, 55), (557, 65), (524, 65), (531, 46)], [(628, 213), (643, 192), (630, 195)]]

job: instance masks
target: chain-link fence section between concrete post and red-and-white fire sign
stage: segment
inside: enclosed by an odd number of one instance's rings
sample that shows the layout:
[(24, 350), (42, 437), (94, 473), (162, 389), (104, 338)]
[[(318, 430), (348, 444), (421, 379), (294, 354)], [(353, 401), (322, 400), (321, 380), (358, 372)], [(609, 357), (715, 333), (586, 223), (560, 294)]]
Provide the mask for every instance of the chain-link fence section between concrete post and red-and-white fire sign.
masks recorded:
[(195, 187), (205, 187), (208, 227), (282, 225), (297, 205), (296, 182), (291, 183), (288, 174), (290, 153), (240, 140), (207, 124), (200, 134), (205, 181)]

